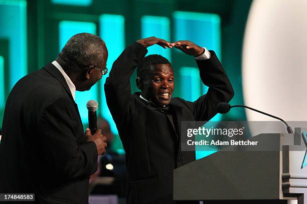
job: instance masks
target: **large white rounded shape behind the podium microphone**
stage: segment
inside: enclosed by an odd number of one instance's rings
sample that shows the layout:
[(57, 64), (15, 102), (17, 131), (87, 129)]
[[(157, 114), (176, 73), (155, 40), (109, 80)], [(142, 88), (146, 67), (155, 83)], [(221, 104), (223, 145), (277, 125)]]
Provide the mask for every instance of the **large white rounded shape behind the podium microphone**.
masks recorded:
[[(242, 55), (244, 104), (307, 120), (307, 0), (253, 0)], [(246, 110), (248, 120), (274, 120)]]

